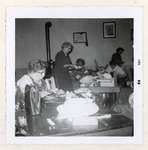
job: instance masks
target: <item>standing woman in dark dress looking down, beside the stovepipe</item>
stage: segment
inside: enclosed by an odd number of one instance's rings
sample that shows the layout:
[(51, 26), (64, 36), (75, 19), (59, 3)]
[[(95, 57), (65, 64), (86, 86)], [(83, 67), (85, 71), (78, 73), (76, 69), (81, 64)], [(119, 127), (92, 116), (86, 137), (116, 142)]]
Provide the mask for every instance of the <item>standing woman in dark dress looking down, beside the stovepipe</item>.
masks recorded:
[(73, 90), (72, 79), (70, 77), (68, 67), (72, 64), (69, 54), (73, 50), (73, 45), (70, 42), (64, 42), (61, 46), (61, 51), (55, 57), (55, 81), (59, 89), (65, 91)]

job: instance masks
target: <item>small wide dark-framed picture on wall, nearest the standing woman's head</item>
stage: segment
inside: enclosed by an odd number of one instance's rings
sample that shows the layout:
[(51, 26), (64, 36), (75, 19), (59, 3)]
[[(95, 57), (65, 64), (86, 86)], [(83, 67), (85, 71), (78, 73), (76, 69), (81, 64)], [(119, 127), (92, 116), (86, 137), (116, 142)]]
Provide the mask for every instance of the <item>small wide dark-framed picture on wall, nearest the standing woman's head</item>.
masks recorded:
[(87, 32), (73, 32), (73, 43), (85, 43), (88, 46)]

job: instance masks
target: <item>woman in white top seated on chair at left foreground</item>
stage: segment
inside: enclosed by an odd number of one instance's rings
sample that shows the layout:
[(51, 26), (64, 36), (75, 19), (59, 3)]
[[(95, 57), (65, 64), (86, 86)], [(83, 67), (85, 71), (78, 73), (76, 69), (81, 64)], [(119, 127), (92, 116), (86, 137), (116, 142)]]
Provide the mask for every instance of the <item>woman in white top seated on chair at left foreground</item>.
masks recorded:
[[(46, 63), (39, 59), (31, 60), (28, 63), (28, 73), (23, 75), (16, 83), (16, 132), (18, 134), (28, 135), (28, 121), (26, 119), (26, 90), (30, 87), (31, 114), (33, 116), (40, 114), (40, 99), (49, 94), (45, 76)], [(29, 96), (29, 97), (30, 97)], [(38, 124), (37, 124), (38, 126)]]

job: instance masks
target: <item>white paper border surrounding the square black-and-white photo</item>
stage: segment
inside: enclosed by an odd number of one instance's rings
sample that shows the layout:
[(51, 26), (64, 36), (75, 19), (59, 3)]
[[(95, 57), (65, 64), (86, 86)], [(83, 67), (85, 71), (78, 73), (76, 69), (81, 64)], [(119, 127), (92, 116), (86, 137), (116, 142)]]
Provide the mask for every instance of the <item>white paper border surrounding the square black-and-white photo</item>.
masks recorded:
[[(123, 11), (122, 11), (123, 10)], [(89, 13), (88, 13), (89, 12)], [(6, 100), (9, 144), (142, 144), (143, 8), (142, 7), (11, 7), (6, 12)], [(134, 136), (16, 137), (15, 136), (15, 19), (16, 18), (133, 18), (134, 19)]]

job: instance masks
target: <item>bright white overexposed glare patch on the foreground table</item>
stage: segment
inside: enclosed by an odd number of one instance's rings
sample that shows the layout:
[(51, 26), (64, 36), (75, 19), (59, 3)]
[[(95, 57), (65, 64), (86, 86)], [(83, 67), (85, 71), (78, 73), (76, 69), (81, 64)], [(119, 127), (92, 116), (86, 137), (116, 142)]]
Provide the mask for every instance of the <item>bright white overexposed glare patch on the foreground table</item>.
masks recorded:
[(57, 107), (58, 120), (67, 119), (73, 126), (97, 125), (97, 118), (89, 117), (98, 112), (98, 106), (90, 98), (69, 98)]

